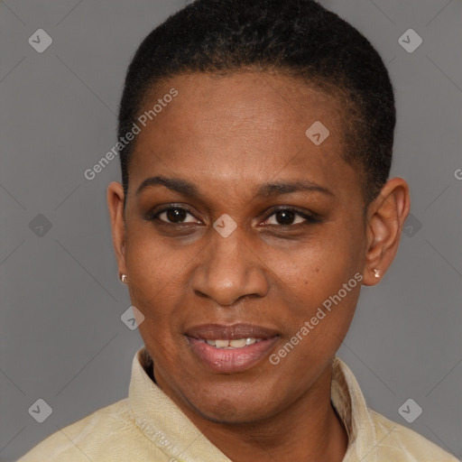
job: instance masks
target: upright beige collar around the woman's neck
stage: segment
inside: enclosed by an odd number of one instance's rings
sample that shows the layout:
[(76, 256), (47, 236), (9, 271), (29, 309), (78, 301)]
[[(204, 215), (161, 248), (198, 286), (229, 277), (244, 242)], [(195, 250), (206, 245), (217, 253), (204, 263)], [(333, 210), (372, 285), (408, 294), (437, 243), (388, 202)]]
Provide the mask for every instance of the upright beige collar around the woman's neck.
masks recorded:
[[(128, 393), (131, 419), (137, 427), (169, 457), (188, 462), (231, 462), (153, 382), (152, 365), (151, 356), (141, 347), (134, 355)], [(332, 365), (331, 401), (348, 434), (344, 462), (361, 460), (377, 444), (374, 423), (349, 367), (337, 356)]]

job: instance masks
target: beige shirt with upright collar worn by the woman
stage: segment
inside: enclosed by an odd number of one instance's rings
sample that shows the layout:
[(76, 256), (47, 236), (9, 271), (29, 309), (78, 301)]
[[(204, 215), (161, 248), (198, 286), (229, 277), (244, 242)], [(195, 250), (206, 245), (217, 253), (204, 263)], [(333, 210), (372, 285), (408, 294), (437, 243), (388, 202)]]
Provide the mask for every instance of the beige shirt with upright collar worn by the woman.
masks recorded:
[[(128, 398), (58, 430), (18, 462), (231, 462), (150, 377), (144, 347), (134, 356)], [(366, 407), (356, 378), (334, 360), (331, 400), (348, 433), (344, 462), (457, 462), (418, 433)]]

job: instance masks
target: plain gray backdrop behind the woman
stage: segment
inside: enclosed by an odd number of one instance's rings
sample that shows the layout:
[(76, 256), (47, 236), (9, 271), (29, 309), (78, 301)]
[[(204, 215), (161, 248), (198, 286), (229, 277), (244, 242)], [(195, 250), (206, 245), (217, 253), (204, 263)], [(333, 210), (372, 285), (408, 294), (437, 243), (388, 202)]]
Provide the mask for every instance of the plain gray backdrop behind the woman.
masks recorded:
[[(383, 282), (365, 288), (339, 351), (369, 405), (462, 456), (460, 199), (462, 5), (458, 0), (322, 2), (373, 42), (390, 69), (398, 125), (393, 175), (412, 217)], [(136, 330), (118, 282), (106, 186), (125, 69), (143, 37), (184, 0), (0, 2), (0, 460), (126, 396)], [(42, 28), (53, 43), (38, 53)], [(398, 39), (423, 39), (409, 53)], [(456, 174), (455, 174), (456, 173)], [(458, 178), (461, 176), (458, 175)], [(51, 222), (37, 236), (34, 217)], [(35, 218), (40, 225), (42, 217)], [(32, 222), (32, 225), (30, 225)], [(31, 229), (32, 227), (32, 229)], [(51, 405), (43, 423), (28, 409)], [(413, 423), (398, 409), (423, 409)]]

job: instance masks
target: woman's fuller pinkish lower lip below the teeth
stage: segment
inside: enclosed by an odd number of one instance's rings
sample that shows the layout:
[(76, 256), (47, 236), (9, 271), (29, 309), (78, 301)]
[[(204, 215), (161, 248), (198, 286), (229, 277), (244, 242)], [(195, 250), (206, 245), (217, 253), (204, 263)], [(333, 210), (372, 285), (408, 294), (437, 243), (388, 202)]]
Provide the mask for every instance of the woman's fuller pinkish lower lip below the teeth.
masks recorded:
[(279, 337), (265, 338), (260, 342), (236, 349), (211, 347), (198, 338), (189, 337), (192, 350), (214, 372), (233, 374), (250, 369), (273, 348)]

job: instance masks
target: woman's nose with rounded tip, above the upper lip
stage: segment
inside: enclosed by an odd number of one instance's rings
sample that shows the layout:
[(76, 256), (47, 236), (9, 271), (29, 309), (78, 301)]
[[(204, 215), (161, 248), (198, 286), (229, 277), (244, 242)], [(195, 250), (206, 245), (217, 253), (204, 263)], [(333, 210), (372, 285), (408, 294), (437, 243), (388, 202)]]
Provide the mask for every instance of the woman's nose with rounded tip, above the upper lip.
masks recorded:
[(265, 264), (237, 228), (231, 236), (215, 230), (199, 257), (192, 276), (192, 289), (221, 306), (231, 306), (245, 297), (264, 297), (269, 290)]

